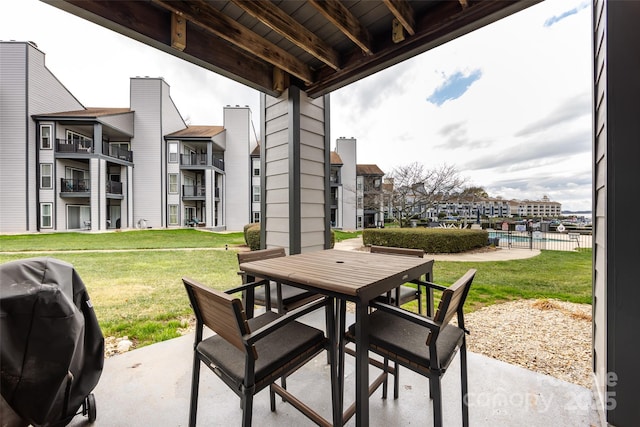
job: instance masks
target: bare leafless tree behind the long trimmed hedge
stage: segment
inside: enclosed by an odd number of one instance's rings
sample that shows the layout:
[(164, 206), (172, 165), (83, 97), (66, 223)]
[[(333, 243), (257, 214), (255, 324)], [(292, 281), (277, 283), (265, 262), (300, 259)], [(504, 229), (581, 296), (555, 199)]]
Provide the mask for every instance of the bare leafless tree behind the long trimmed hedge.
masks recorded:
[(390, 204), (400, 227), (408, 226), (412, 218), (423, 217), (429, 208), (459, 191), (466, 182), (453, 166), (425, 169), (417, 162), (395, 168), (390, 178)]

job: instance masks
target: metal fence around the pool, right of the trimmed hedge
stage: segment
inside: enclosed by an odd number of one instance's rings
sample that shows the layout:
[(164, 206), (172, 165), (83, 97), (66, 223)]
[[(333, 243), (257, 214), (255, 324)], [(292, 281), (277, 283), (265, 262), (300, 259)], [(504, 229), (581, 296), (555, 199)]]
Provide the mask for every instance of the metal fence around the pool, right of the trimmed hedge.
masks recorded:
[(591, 248), (591, 232), (542, 232), (487, 230), (489, 243), (500, 248), (544, 249), (552, 251), (574, 251)]

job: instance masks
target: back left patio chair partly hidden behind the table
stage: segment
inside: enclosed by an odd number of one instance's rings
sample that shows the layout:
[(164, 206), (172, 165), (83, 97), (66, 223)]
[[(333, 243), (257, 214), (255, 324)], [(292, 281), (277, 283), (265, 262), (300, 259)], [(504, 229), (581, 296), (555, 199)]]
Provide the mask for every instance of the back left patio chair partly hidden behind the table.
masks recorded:
[[(238, 252), (238, 265), (244, 262), (259, 261), (263, 259), (271, 259), (286, 256), (284, 248), (261, 249), (251, 252)], [(252, 278), (245, 272), (239, 271), (242, 276), (242, 282), (248, 283), (261, 280), (259, 277)], [(269, 293), (270, 298), (265, 298)], [(322, 298), (322, 295), (315, 292), (309, 292), (305, 289), (296, 288), (295, 286), (284, 285), (281, 283), (270, 282), (265, 286), (256, 288), (254, 291), (253, 304), (265, 306), (267, 310), (275, 305), (278, 313), (286, 313), (295, 308), (301, 307), (311, 301)], [(247, 293), (243, 293), (243, 303), (248, 308), (248, 317), (253, 316), (253, 310), (247, 304)]]

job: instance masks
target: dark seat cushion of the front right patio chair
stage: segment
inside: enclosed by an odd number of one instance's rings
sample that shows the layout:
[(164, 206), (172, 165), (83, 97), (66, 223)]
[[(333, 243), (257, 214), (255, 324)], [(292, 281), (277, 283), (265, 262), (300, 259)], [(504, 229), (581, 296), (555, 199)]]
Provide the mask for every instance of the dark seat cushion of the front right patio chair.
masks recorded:
[[(420, 373), (429, 372), (429, 329), (402, 319), (397, 315), (376, 310), (369, 315), (370, 349)], [(464, 331), (447, 325), (436, 342), (439, 369), (445, 370), (462, 345)], [(347, 339), (355, 341), (355, 324), (349, 326)]]

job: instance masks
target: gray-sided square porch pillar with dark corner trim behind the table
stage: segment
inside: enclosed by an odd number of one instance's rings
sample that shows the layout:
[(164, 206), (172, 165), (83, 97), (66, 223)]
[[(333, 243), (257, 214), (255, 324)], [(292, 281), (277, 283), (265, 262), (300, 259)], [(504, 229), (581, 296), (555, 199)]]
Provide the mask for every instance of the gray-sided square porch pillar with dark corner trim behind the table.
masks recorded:
[(277, 99), (263, 98), (266, 247), (285, 247), (289, 253), (325, 248), (329, 147), (324, 102), (297, 88)]

